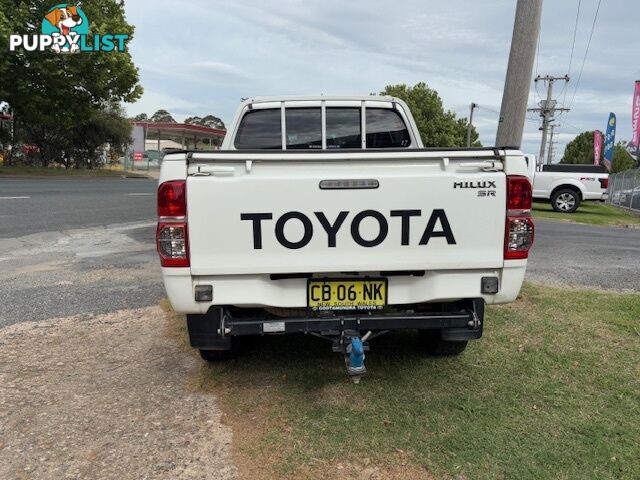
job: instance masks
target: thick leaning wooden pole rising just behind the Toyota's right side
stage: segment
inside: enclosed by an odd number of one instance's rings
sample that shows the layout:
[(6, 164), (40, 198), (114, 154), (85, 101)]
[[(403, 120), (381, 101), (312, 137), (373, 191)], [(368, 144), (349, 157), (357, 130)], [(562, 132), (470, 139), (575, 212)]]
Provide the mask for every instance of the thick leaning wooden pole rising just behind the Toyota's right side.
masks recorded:
[(542, 0), (518, 0), (496, 133), (498, 147), (522, 144), (541, 16)]

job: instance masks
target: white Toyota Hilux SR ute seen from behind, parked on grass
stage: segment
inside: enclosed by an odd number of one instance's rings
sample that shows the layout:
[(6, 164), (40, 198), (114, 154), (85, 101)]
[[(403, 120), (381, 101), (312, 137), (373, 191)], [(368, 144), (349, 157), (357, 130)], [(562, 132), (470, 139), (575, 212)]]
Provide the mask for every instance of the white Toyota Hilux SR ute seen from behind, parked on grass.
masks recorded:
[(425, 149), (399, 99), (252, 98), (220, 150), (164, 157), (157, 249), (206, 360), (303, 332), (355, 379), (390, 330), (432, 354), (480, 338), (484, 305), (520, 291), (531, 199), (520, 151)]

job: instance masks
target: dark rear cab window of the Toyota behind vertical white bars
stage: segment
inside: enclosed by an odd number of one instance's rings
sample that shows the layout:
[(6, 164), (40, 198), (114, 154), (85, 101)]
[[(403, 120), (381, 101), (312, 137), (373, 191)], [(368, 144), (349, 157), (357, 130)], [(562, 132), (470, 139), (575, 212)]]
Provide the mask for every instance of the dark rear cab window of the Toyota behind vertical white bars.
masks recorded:
[[(326, 107), (326, 148), (365, 148), (362, 142), (360, 107)], [(366, 148), (406, 148), (411, 145), (409, 129), (395, 109), (365, 109)], [(320, 107), (285, 108), (287, 150), (322, 149)], [(282, 111), (279, 108), (250, 110), (242, 117), (234, 145), (238, 150), (282, 149)]]

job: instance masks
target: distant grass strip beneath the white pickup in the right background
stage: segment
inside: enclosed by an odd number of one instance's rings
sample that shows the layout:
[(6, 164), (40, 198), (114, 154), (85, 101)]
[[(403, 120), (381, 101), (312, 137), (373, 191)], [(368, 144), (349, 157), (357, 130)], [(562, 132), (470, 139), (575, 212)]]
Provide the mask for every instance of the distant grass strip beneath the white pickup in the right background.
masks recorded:
[(549, 202), (534, 202), (533, 216), (591, 225), (640, 225), (640, 215), (600, 202), (583, 202), (575, 213), (554, 212)]

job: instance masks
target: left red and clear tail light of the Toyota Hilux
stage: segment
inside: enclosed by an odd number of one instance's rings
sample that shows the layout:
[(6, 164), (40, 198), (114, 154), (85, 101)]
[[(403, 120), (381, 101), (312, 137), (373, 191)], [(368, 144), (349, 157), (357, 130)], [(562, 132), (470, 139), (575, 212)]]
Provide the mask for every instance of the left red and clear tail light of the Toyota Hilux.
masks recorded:
[(158, 187), (158, 228), (156, 246), (163, 267), (188, 267), (189, 234), (186, 183), (164, 182)]

